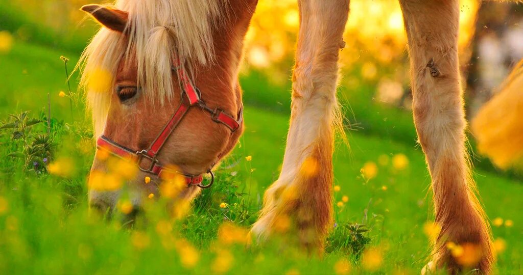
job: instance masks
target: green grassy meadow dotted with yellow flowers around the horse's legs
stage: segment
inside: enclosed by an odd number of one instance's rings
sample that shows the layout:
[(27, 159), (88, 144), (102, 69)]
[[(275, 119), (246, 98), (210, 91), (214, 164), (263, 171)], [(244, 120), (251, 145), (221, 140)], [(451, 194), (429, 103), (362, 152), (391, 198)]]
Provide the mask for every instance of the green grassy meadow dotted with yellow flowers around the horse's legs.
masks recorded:
[[(25, 127), (0, 129), (0, 274), (418, 274), (426, 264), (437, 226), (425, 158), (410, 111), (376, 103), (371, 85), (340, 85), (348, 145), (338, 140), (334, 154), (335, 223), (325, 254), (308, 256), (278, 239), (246, 246), (264, 190), (278, 176), (288, 80), (275, 84), (263, 71), (245, 70), (246, 130), (218, 168), (217, 183), (176, 220), (165, 201), (152, 198), (129, 229), (121, 219), (125, 195), (110, 221), (87, 207), (92, 126), (77, 77), (70, 93), (60, 58), (70, 58), (71, 71), (76, 45), (86, 41), (12, 39), (0, 52), (0, 125), (20, 119), (17, 127)], [(67, 173), (56, 173), (57, 162), (68, 164)], [(521, 274), (521, 177), (475, 154), (473, 162), (493, 228), (495, 273)]]

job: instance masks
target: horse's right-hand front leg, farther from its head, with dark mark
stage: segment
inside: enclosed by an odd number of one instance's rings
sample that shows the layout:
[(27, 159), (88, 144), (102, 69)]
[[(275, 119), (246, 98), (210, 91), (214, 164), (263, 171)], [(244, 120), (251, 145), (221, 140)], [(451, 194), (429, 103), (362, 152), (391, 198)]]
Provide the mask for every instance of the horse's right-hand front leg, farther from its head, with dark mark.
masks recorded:
[[(490, 228), (474, 194), (465, 149), (459, 0), (400, 3), (411, 58), (414, 124), (432, 178), (436, 223), (441, 228), (427, 267), (446, 268), (453, 274), (473, 269), (490, 273)], [(457, 245), (463, 248), (462, 255), (452, 253)]]

